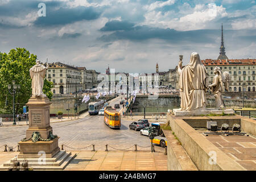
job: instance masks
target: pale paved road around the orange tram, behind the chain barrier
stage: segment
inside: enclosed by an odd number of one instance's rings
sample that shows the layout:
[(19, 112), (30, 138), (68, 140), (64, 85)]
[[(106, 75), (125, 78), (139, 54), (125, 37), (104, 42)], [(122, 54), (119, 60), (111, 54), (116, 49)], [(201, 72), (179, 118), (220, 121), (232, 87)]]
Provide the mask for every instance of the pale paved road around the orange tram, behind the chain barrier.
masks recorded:
[[(121, 97), (122, 95), (110, 101), (110, 105), (114, 107), (114, 104), (119, 104)], [(95, 144), (96, 150), (105, 150), (105, 144), (109, 144), (109, 150), (114, 150), (112, 147), (122, 150), (133, 144), (142, 146), (138, 146), (138, 150), (151, 150), (148, 147), (150, 139), (141, 136), (139, 131), (130, 130), (130, 123), (131, 121), (122, 118), (120, 130), (110, 129), (105, 125), (103, 115), (88, 115), (75, 121), (51, 123), (51, 126), (53, 134), (60, 137), (59, 146), (65, 145), (64, 150), (92, 150), (92, 147), (85, 148), (90, 144)], [(20, 139), (26, 137), (27, 129), (28, 126), (0, 127), (0, 147), (3, 144), (15, 147)], [(163, 151), (161, 147), (156, 146), (155, 150), (157, 149)], [(134, 147), (130, 150), (134, 150)]]

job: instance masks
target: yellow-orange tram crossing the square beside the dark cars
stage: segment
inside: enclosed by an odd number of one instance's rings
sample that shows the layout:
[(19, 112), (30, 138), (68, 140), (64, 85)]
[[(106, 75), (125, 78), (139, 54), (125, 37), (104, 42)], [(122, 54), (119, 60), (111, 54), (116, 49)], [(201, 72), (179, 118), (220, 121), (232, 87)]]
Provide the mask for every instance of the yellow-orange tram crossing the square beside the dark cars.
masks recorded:
[(121, 115), (112, 106), (106, 106), (104, 110), (104, 122), (112, 129), (120, 129)]

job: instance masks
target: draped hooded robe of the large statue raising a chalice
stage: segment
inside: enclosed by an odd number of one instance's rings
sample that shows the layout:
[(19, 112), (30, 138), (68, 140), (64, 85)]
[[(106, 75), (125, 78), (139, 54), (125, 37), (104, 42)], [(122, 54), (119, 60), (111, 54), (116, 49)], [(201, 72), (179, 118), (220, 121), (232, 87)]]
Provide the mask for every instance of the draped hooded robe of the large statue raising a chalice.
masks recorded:
[(181, 110), (206, 107), (207, 71), (198, 54), (191, 55), (190, 63), (180, 72), (179, 79)]

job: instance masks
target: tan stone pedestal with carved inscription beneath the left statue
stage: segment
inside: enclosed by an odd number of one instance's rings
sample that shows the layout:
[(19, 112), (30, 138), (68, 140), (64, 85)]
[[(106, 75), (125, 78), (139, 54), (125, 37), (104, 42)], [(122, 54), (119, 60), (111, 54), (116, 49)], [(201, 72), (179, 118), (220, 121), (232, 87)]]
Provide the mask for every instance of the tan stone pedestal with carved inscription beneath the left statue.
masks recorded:
[(49, 123), (49, 106), (51, 102), (47, 97), (31, 97), (28, 100), (29, 109), (29, 127), (26, 132), (26, 139), (31, 138), (33, 132), (40, 133), (42, 140), (33, 142), (31, 139), (19, 142), (20, 154), (18, 158), (39, 158), (40, 151), (46, 154), (46, 158), (52, 158), (57, 152), (60, 151), (58, 140), (56, 137), (49, 141), (44, 141), (49, 138), (49, 133), (52, 132), (52, 127)]

